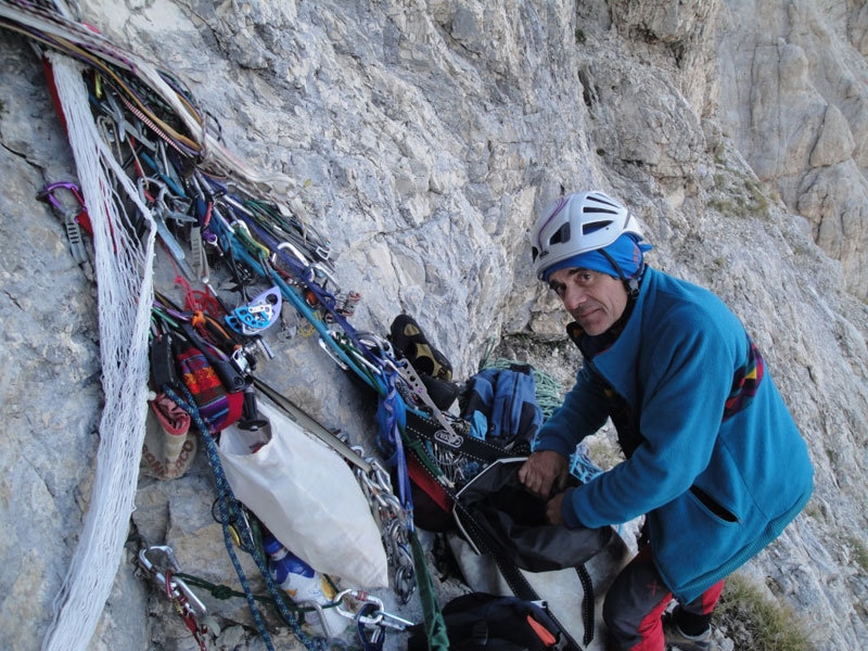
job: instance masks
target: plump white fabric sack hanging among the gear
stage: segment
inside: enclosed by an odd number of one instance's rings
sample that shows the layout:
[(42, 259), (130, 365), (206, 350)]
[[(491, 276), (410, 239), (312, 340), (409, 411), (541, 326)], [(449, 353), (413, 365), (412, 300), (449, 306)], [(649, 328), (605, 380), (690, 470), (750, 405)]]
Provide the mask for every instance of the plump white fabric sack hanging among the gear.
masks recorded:
[(226, 478), (273, 536), (319, 572), (353, 587), (388, 586), (380, 529), (349, 465), (278, 408), (258, 403), (268, 424), (220, 434)]

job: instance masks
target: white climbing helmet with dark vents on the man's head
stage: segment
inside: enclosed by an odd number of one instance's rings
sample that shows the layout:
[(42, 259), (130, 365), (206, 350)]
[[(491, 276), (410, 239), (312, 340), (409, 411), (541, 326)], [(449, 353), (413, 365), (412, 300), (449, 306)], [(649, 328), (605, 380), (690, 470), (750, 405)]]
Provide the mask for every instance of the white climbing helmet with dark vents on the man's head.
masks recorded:
[(609, 246), (624, 233), (642, 238), (639, 221), (617, 200), (596, 191), (561, 196), (534, 225), (534, 271), (542, 280), (552, 265)]

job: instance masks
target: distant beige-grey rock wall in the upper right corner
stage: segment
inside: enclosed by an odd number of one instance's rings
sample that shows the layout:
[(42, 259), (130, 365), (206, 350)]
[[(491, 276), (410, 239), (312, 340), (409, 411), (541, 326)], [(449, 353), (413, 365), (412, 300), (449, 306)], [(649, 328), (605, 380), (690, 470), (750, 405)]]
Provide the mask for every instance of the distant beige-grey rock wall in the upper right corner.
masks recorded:
[(736, 1), (726, 2), (723, 15), (723, 124), (757, 177), (843, 264), (847, 289), (864, 298), (865, 8)]

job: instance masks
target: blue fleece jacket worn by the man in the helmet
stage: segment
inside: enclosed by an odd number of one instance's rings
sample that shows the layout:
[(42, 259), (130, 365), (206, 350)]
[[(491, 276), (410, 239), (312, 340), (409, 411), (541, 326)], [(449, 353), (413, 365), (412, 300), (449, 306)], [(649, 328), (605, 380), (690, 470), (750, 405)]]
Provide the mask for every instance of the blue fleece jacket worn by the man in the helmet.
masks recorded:
[(598, 527), (647, 514), (656, 567), (682, 601), (760, 552), (813, 492), (807, 447), (767, 370), (724, 418), (750, 359), (745, 329), (719, 298), (649, 268), (623, 332), (586, 355), (534, 445), (571, 455), (612, 416), (612, 392), (623, 399), (634, 449), (567, 493), (564, 521)]

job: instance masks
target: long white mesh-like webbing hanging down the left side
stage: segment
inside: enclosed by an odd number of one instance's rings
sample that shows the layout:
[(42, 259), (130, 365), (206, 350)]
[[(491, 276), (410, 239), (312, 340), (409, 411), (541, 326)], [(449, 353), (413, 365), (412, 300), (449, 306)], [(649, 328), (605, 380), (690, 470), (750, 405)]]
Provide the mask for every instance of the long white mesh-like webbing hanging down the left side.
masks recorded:
[[(100, 138), (81, 67), (50, 56), (54, 84), (93, 225), (104, 407), (90, 505), (54, 600), (44, 650), (86, 649), (112, 590), (133, 510), (148, 409), (148, 331), (156, 228)], [(116, 189), (118, 189), (116, 191)], [(122, 205), (132, 202), (131, 217)], [(126, 205), (129, 205), (127, 203)]]

